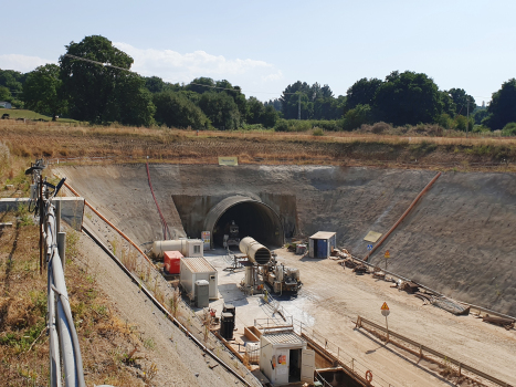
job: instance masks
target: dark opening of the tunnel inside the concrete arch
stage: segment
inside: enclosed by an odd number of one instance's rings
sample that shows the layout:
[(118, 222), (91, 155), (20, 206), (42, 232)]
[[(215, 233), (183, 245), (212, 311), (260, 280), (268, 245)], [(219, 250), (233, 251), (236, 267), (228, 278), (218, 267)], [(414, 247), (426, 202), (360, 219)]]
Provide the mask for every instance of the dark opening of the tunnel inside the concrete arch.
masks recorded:
[(224, 233), (229, 233), (233, 220), (240, 228), (240, 239), (252, 237), (267, 247), (283, 244), (283, 228), (278, 216), (271, 208), (257, 201), (240, 202), (225, 210), (213, 227), (214, 244), (222, 247)]

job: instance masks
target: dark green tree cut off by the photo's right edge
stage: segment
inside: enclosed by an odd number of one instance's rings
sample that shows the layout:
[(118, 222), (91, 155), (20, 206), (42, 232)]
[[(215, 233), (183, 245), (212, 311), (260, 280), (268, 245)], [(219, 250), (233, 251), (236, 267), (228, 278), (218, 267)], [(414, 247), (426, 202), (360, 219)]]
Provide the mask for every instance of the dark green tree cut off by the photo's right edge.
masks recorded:
[(502, 88), (493, 93), (489, 113), (484, 123), (492, 130), (499, 130), (506, 124), (516, 122), (516, 80), (512, 79), (502, 85)]

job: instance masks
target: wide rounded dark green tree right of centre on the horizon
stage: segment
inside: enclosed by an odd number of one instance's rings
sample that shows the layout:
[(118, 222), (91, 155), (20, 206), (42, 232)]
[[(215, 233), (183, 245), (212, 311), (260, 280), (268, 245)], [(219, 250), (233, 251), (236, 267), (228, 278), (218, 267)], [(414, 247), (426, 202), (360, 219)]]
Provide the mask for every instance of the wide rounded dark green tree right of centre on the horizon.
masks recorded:
[(438, 85), (427, 74), (392, 72), (375, 95), (377, 121), (393, 125), (432, 123), (442, 113)]

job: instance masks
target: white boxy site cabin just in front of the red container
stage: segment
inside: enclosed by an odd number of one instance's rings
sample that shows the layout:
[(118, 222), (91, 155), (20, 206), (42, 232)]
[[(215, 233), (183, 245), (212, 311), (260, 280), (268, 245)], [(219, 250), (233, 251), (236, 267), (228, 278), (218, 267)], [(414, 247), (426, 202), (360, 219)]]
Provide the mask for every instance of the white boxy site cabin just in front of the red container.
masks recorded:
[(204, 280), (209, 283), (210, 300), (218, 299), (217, 269), (204, 257), (181, 258), (181, 273), (179, 282), (187, 293), (196, 296), (196, 281)]

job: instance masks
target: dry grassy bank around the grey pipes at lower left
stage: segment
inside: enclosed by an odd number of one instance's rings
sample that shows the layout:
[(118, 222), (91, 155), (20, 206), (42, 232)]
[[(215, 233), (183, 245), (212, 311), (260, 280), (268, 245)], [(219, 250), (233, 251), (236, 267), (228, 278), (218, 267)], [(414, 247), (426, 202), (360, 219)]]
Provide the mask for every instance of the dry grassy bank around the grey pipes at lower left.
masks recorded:
[[(46, 386), (49, 342), (45, 335), (46, 274), (39, 274), (38, 227), (27, 224), (27, 212), (0, 213), (15, 227), (0, 231), (0, 380), (2, 386)], [(74, 232), (69, 231), (69, 236)], [(66, 284), (83, 354), (88, 386), (144, 386), (156, 373), (150, 362), (138, 367), (124, 363), (141, 342), (97, 289), (95, 279), (76, 263), (78, 238), (67, 238)], [(155, 376), (155, 375), (154, 375)], [(154, 377), (152, 376), (152, 377)]]

